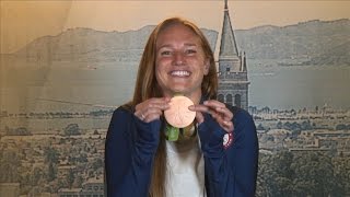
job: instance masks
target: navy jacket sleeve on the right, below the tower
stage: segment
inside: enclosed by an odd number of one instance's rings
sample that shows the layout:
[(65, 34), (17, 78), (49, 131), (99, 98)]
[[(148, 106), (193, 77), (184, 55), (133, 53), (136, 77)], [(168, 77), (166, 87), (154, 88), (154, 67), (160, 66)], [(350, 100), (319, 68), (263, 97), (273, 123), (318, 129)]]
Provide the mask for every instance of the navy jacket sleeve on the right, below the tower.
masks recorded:
[(252, 116), (236, 109), (233, 143), (224, 148), (226, 134), (210, 116), (198, 127), (206, 167), (206, 188), (210, 197), (253, 197), (255, 195), (258, 139)]

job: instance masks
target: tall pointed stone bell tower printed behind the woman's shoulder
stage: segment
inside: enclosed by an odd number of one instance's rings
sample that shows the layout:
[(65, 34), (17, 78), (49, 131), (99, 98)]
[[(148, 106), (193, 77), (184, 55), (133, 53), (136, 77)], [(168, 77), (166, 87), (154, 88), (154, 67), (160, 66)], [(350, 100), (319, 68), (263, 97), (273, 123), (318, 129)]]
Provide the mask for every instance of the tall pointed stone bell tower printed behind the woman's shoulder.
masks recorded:
[(249, 82), (247, 78), (246, 57), (245, 53), (238, 54), (230, 20), (228, 0), (225, 0), (221, 32), (218, 77), (218, 100), (247, 111)]

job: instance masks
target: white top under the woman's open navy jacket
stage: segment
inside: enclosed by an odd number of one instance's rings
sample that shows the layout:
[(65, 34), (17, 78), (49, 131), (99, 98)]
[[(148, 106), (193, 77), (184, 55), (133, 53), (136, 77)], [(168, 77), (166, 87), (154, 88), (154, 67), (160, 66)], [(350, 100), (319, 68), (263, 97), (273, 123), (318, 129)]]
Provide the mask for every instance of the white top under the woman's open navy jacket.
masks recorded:
[(206, 197), (205, 161), (198, 139), (166, 141), (166, 197)]

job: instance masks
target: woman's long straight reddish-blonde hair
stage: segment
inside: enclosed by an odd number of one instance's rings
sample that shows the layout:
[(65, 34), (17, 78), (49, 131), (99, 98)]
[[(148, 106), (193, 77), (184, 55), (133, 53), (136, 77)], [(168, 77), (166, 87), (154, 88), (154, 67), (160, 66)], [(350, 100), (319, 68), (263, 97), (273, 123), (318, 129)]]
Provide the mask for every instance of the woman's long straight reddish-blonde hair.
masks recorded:
[[(161, 97), (162, 91), (155, 79), (155, 56), (156, 56), (156, 40), (162, 31), (166, 27), (175, 24), (182, 24), (190, 28), (200, 39), (201, 47), (205, 53), (205, 57), (209, 60), (210, 67), (207, 76), (203, 77), (201, 83), (201, 92), (206, 99), (217, 99), (218, 92), (218, 73), (214, 62), (213, 53), (210, 48), (209, 42), (207, 40), (203, 33), (194, 23), (180, 19), (180, 18), (170, 18), (161, 22), (151, 33), (147, 45), (144, 47), (142, 58), (139, 65), (136, 86), (133, 91), (133, 99), (128, 104), (129, 107), (133, 108), (137, 104), (149, 100), (151, 97)], [(164, 128), (162, 128), (163, 130)], [(161, 131), (161, 142), (158, 148), (153, 172), (152, 181), (149, 189), (151, 197), (163, 197), (165, 196), (165, 173), (166, 173), (166, 151), (165, 151), (165, 138)]]

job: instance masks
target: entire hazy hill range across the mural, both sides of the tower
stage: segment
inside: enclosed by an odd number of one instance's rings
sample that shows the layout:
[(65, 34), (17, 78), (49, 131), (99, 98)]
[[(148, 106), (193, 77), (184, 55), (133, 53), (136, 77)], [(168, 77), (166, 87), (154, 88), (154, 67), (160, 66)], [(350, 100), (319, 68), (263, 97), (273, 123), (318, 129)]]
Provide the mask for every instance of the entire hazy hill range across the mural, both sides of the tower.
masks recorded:
[[(71, 28), (39, 37), (16, 51), (28, 61), (138, 61), (154, 26), (128, 32)], [(203, 30), (214, 49), (218, 32)], [(275, 59), (281, 65), (350, 65), (350, 21), (308, 21), (288, 26), (235, 31), (248, 59)]]

